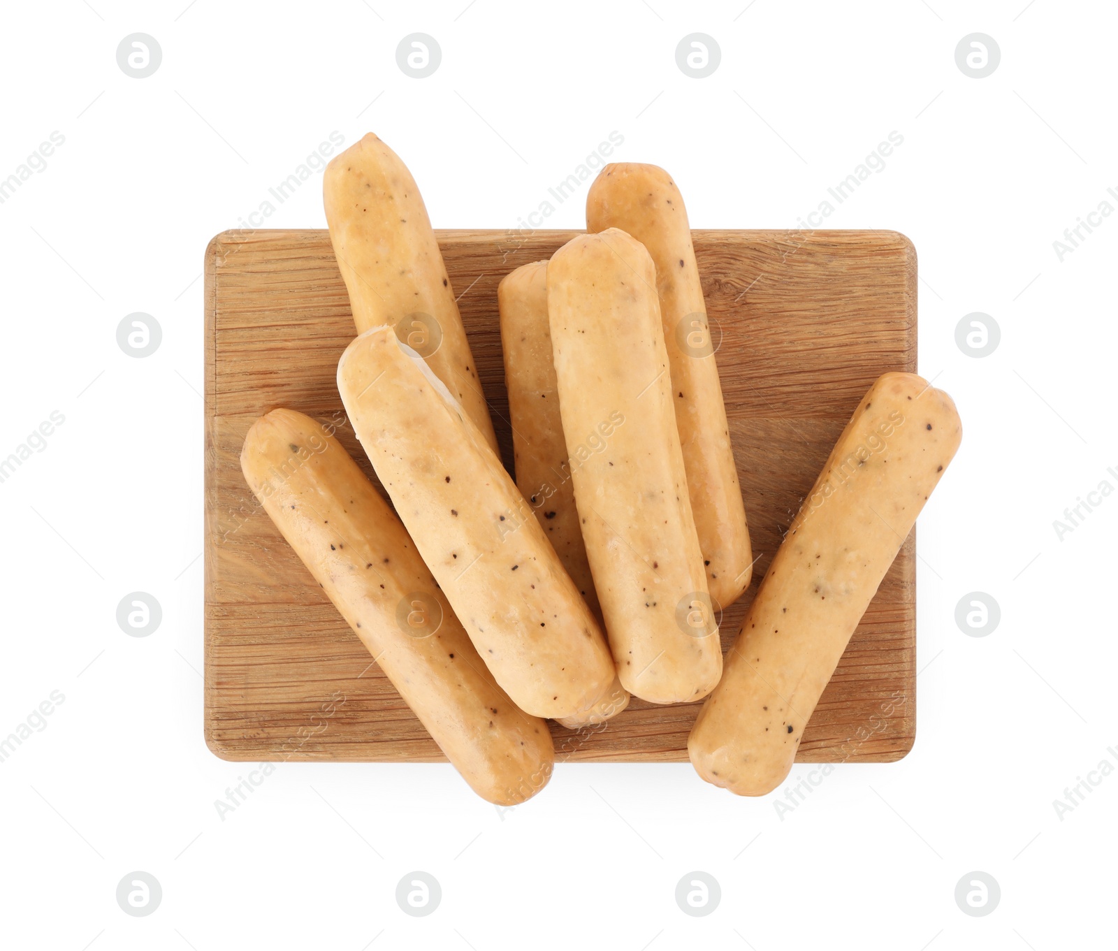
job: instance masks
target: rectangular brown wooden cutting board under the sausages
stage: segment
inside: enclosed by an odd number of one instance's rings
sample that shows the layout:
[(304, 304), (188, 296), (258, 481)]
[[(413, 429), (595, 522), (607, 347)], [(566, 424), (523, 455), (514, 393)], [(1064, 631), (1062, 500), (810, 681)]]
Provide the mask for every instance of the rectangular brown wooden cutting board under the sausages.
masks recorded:
[[(496, 285), (575, 231), (439, 231), (505, 465), (512, 438)], [(916, 251), (893, 231), (695, 231), (756, 579), (724, 612), (723, 649), (840, 431), (873, 380), (916, 370)], [(226, 231), (206, 250), (206, 742), (229, 760), (443, 760), (240, 474), (276, 407), (339, 425), (376, 481), (334, 382), (354, 335), (325, 231)], [(380, 488), (379, 483), (377, 483)], [(903, 757), (916, 731), (910, 536), (799, 745), (802, 762)], [(551, 724), (558, 760), (684, 761), (699, 704), (634, 698), (604, 726)]]

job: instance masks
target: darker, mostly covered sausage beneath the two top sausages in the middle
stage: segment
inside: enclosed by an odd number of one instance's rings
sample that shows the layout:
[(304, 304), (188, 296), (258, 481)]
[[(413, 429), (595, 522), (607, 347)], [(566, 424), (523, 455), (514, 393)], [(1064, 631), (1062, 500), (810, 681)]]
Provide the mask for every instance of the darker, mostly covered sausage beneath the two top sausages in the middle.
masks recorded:
[[(590, 563), (575, 507), (575, 485), (567, 462), (559, 391), (551, 360), (546, 260), (525, 264), (502, 278), (496, 288), (501, 314), (504, 386), (517, 463), (517, 487), (578, 588), (587, 607), (601, 620)], [(577, 730), (616, 716), (628, 705), (628, 692), (616, 678), (586, 713), (560, 719)]]

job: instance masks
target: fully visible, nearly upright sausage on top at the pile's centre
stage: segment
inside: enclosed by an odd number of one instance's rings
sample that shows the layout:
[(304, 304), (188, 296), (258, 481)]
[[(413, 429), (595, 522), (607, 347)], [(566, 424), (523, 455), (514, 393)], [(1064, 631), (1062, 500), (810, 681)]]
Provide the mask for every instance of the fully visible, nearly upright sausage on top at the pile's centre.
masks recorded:
[(710, 611), (644, 246), (581, 235), (548, 264), (559, 409), (586, 553), (620, 682), (653, 703), (705, 696), (722, 653)]

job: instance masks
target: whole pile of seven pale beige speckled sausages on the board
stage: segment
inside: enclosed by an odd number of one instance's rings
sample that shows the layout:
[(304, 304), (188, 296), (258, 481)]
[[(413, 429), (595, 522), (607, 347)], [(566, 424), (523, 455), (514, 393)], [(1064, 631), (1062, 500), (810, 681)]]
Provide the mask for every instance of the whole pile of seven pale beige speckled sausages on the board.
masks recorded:
[(515, 483), (407, 168), (367, 135), (330, 163), (324, 196), (359, 334), (338, 388), (395, 512), (291, 410), (253, 426), (241, 468), (443, 752), (511, 805), (551, 774), (544, 719), (578, 729), (631, 694), (708, 697), (689, 742), (700, 776), (741, 795), (779, 784), (958, 446), (950, 399), (915, 374), (874, 384), (723, 669), (718, 618), (752, 554), (671, 178), (606, 167), (587, 234), (501, 282)]

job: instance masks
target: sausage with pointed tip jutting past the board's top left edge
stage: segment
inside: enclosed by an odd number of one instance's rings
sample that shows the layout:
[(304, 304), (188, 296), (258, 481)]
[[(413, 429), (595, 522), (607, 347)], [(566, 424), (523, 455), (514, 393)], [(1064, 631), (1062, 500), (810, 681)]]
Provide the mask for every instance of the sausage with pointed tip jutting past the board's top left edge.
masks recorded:
[(499, 451), (454, 288), (407, 165), (370, 132), (330, 161), (322, 194), (357, 332), (391, 325)]

